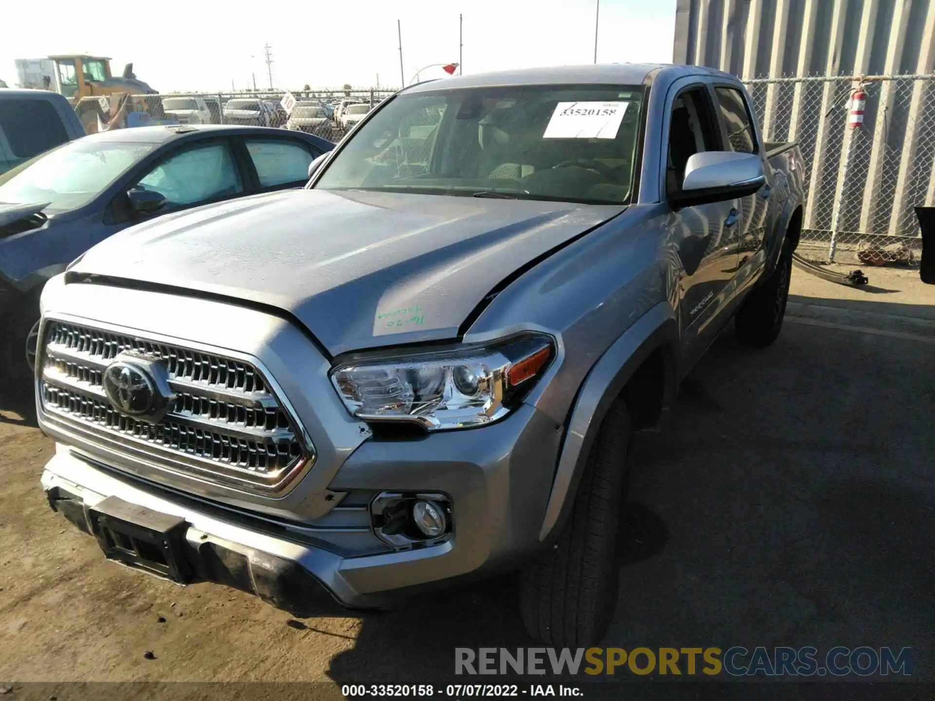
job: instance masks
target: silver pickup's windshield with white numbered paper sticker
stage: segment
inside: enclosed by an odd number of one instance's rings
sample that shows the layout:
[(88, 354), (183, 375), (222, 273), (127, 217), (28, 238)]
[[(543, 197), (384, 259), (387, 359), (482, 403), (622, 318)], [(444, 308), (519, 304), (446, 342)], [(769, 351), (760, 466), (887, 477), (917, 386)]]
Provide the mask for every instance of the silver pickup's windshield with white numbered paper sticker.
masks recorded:
[(626, 203), (642, 98), (608, 85), (399, 95), (315, 187)]

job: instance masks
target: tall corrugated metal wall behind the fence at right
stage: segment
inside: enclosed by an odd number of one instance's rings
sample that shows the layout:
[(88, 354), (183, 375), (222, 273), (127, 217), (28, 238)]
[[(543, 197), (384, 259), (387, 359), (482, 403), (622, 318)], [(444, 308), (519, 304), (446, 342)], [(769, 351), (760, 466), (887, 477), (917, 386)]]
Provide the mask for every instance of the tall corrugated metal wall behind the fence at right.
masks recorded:
[[(676, 13), (674, 62), (740, 76), (766, 137), (800, 142), (807, 229), (917, 235), (913, 206), (935, 206), (935, 0), (678, 0)], [(916, 78), (873, 78), (899, 75)], [(854, 132), (857, 77), (868, 102)]]

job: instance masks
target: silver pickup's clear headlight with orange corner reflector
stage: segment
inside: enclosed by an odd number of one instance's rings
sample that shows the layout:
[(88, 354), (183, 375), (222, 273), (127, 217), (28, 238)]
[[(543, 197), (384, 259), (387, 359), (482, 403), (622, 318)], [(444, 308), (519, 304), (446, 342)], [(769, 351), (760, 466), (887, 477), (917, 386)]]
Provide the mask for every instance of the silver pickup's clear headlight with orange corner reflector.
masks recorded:
[(458, 350), (363, 356), (335, 367), (331, 381), (359, 419), (469, 428), (510, 413), (553, 356), (551, 336), (526, 334)]

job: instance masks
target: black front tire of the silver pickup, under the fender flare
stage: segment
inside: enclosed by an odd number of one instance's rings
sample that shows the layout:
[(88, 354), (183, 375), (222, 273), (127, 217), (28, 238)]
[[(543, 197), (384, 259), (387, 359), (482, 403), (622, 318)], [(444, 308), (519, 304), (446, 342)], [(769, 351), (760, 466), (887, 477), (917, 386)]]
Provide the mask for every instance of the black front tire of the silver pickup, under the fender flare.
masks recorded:
[(630, 422), (617, 400), (601, 423), (562, 534), (522, 573), (530, 636), (557, 648), (597, 644), (617, 604), (617, 532), (626, 501)]

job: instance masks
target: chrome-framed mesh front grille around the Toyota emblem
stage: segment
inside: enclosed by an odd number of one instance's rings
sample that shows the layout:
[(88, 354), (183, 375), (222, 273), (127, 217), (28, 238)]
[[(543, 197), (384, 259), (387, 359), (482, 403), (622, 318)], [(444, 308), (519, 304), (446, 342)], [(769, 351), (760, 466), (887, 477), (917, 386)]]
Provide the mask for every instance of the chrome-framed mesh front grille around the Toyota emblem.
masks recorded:
[[(92, 443), (198, 477), (281, 491), (313, 453), (294, 417), (251, 363), (139, 336), (50, 320), (39, 393), (47, 417)], [(127, 351), (158, 359), (169, 407), (158, 422), (113, 408), (103, 373)]]

